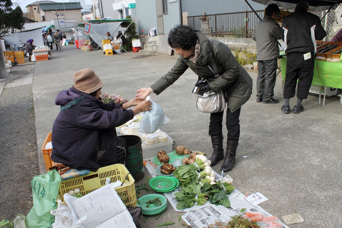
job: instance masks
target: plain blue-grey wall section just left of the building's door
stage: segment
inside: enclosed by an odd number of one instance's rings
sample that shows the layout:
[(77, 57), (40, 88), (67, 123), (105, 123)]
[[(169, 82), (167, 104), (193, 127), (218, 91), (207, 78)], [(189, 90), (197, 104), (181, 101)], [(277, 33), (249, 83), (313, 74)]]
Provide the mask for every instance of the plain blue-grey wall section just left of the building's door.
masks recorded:
[(135, 0), (135, 5), (138, 33), (141, 34), (144, 29), (144, 33), (148, 34), (151, 28), (157, 28), (158, 34), (156, 0)]

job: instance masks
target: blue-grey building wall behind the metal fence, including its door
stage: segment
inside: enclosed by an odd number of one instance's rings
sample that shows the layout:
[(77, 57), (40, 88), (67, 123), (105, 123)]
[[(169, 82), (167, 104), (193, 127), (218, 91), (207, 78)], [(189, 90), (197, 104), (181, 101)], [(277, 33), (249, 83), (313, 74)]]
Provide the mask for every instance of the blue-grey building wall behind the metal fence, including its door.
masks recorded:
[[(243, 0), (135, 0), (138, 32), (145, 34), (156, 28), (157, 35), (169, 34), (170, 30), (187, 20), (186, 16), (245, 12), (251, 9)], [(249, 1), (254, 10), (263, 10), (263, 4)], [(183, 17), (183, 15), (186, 15)]]

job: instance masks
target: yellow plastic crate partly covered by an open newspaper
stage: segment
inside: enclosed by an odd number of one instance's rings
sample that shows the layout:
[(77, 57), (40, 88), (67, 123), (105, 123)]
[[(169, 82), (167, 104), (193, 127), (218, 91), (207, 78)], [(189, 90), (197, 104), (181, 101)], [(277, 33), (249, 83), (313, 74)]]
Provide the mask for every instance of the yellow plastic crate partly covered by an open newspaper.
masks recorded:
[(75, 188), (80, 189), (81, 194), (84, 196), (86, 191), (92, 192), (104, 186), (106, 178), (110, 178), (110, 183), (117, 180), (123, 182), (127, 174), (129, 180), (125, 180), (126, 185), (116, 188), (115, 191), (126, 206), (137, 206), (134, 179), (123, 164), (109, 165), (98, 169), (97, 172), (90, 171), (88, 175), (62, 180), (58, 191), (58, 199), (64, 201), (63, 195)]

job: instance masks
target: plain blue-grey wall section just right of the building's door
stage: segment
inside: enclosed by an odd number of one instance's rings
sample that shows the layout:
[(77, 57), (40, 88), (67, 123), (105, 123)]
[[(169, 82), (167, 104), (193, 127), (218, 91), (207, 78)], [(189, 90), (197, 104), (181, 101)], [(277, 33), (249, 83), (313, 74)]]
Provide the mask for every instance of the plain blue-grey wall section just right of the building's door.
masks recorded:
[(169, 34), (172, 28), (181, 24), (180, 1), (168, 3), (168, 12), (163, 15), (164, 34)]

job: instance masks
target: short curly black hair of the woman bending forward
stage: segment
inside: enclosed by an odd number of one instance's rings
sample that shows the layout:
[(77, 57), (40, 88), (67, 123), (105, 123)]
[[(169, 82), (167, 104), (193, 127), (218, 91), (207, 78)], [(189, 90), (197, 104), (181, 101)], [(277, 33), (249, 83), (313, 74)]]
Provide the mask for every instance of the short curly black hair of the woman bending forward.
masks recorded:
[(197, 35), (194, 29), (187, 25), (178, 25), (171, 29), (168, 37), (171, 48), (190, 50), (197, 43)]

